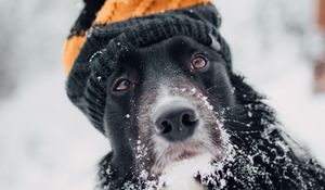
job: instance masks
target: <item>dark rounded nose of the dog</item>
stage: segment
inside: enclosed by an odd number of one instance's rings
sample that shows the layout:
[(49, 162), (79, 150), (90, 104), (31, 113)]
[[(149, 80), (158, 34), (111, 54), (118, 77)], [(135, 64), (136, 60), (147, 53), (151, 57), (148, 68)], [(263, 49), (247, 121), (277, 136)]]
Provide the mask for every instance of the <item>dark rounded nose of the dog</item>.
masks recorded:
[(156, 119), (156, 129), (170, 141), (180, 141), (191, 137), (199, 118), (193, 109), (172, 107), (162, 112)]

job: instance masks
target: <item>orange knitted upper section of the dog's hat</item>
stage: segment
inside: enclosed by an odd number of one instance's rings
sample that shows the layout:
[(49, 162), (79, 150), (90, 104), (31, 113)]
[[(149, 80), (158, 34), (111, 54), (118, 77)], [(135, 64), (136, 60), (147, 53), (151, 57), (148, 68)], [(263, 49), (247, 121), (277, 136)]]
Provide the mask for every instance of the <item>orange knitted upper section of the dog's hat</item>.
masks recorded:
[[(72, 31), (64, 46), (63, 52), (65, 72), (69, 73), (72, 69), (76, 58), (78, 56), (79, 51), (86, 41), (86, 31), (90, 29), (126, 21), (131, 17), (141, 17), (144, 15), (162, 13), (169, 10), (183, 9), (207, 3), (209, 3), (209, 0), (98, 0), (98, 2), (89, 2), (87, 5), (92, 4), (95, 10), (90, 10), (88, 8), (86, 11), (92, 11), (95, 13), (95, 17), (91, 16), (94, 18), (94, 21), (92, 21), (91, 25), (82, 28), (81, 30)], [(99, 7), (98, 4), (102, 5)]]

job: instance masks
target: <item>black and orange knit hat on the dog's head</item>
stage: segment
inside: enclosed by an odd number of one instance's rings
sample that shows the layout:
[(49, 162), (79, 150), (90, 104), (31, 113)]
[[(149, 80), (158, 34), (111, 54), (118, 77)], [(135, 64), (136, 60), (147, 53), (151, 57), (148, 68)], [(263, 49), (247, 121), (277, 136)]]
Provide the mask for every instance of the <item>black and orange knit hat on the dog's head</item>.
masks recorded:
[(221, 17), (209, 0), (84, 1), (64, 47), (66, 90), (103, 134), (106, 79), (123, 52), (176, 36), (207, 46), (218, 40), (220, 54), (231, 69), (229, 47), (218, 31)]

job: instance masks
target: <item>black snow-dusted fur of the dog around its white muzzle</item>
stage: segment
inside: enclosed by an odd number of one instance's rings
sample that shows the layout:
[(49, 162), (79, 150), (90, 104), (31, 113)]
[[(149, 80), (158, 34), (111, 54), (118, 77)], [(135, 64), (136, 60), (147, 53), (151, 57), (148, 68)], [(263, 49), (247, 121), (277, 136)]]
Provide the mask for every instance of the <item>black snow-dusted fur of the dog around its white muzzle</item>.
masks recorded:
[[(209, 60), (207, 69), (188, 69), (196, 53)], [(132, 88), (112, 92), (114, 80), (120, 76), (130, 78)], [(297, 155), (294, 149), (304, 150), (298, 144), (292, 147), (273, 110), (262, 102), (263, 97), (227, 69), (218, 52), (187, 37), (173, 37), (120, 55), (107, 81), (105, 131), (113, 151), (100, 163), (100, 189), (145, 189), (148, 181), (155, 187), (155, 177), (139, 177), (152, 163), (143, 165), (135, 155), (141, 136), (136, 124), (141, 119), (139, 112), (145, 106), (142, 98), (156, 93), (165, 79), (181, 81), (176, 86), (185, 81), (199, 88), (230, 136), (227, 155), (211, 164), (222, 166), (221, 169), (197, 174), (197, 180), (207, 189), (325, 189), (324, 168), (308, 153)], [(128, 114), (130, 118), (126, 117)]]

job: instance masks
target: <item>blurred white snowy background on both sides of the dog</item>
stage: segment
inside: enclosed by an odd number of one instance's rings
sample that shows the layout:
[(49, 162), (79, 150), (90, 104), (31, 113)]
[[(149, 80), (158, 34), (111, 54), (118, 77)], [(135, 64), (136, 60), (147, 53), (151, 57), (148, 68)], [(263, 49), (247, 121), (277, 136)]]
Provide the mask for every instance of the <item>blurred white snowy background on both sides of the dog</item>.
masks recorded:
[[(216, 0), (234, 69), (325, 164), (325, 0)], [(0, 189), (89, 190), (109, 144), (67, 100), (81, 0), (0, 0)]]

